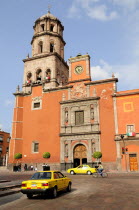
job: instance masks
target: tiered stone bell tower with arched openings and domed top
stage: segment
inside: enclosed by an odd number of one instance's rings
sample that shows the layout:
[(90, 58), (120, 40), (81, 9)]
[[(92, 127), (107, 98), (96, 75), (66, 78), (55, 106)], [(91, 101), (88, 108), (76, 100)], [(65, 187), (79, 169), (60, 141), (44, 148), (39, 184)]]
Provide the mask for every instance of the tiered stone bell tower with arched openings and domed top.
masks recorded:
[(32, 37), (32, 57), (23, 60), (23, 92), (33, 86), (51, 89), (67, 84), (68, 65), (64, 61), (64, 26), (50, 12), (35, 21)]

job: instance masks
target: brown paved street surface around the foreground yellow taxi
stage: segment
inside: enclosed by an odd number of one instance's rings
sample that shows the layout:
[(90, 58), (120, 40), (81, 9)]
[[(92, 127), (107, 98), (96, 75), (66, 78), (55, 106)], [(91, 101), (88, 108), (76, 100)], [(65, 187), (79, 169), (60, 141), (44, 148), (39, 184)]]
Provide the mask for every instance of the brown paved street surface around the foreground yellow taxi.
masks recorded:
[[(24, 172), (23, 172), (24, 173)], [(23, 179), (29, 174), (20, 172)], [(66, 174), (67, 175), (67, 174)], [(15, 175), (13, 174), (13, 177)], [(12, 177), (12, 174), (11, 174)], [(138, 210), (139, 173), (109, 173), (107, 178), (90, 175), (68, 175), (72, 179), (72, 191), (60, 193), (56, 199), (17, 193), (1, 197), (1, 210)], [(17, 197), (18, 196), (18, 197)], [(12, 201), (10, 201), (12, 197)], [(5, 199), (5, 200), (4, 200)], [(6, 199), (8, 202), (6, 203)], [(0, 202), (1, 202), (0, 201)]]

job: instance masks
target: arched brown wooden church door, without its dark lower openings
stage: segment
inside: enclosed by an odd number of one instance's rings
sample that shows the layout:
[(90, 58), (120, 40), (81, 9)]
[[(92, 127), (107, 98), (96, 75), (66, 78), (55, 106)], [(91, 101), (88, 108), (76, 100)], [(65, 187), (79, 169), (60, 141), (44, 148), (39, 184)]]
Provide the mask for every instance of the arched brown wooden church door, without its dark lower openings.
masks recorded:
[(73, 157), (80, 159), (80, 165), (82, 165), (82, 159), (87, 158), (86, 147), (83, 144), (78, 144), (74, 149)]

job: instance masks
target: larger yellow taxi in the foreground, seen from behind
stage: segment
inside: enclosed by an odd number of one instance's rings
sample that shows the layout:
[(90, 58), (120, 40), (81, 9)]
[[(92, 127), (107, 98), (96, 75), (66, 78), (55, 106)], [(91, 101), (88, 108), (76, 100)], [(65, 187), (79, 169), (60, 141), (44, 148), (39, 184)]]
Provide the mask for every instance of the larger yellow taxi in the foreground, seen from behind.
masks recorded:
[(26, 194), (29, 199), (35, 194), (45, 195), (51, 193), (53, 198), (62, 190), (71, 191), (71, 179), (60, 171), (39, 171), (30, 180), (23, 181), (21, 192)]

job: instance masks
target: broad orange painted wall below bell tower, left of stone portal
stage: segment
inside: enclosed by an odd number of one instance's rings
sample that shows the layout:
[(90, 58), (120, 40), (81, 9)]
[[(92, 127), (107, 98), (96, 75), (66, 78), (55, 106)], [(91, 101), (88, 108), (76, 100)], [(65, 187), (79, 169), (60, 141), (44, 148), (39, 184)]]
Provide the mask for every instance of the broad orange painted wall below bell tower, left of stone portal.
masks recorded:
[[(34, 87), (31, 96), (24, 97), (22, 162), (60, 161), (60, 104), (67, 90), (42, 93), (42, 87)], [(31, 110), (32, 97), (42, 97), (42, 109)], [(39, 153), (32, 153), (32, 142), (39, 142)], [(44, 160), (42, 154), (50, 152), (51, 158)], [(26, 157), (24, 157), (24, 155)]]

